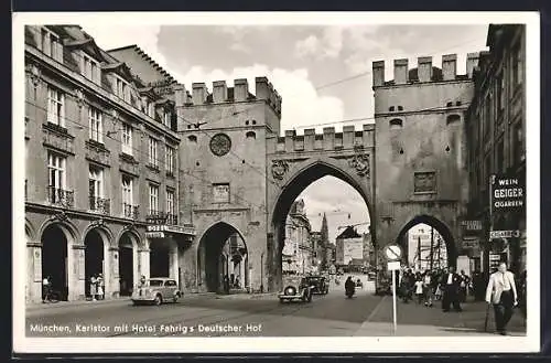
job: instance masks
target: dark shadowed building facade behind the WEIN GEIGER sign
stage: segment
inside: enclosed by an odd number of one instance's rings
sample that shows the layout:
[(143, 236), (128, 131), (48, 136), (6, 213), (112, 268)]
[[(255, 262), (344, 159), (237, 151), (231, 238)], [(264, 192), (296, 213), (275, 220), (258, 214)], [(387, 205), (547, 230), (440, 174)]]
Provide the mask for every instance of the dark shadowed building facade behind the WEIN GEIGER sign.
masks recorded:
[[(469, 220), (483, 228), (473, 256), (488, 271), (499, 260), (515, 273), (526, 269), (526, 209), (490, 209), (493, 175), (507, 175), (526, 185), (526, 29), (490, 25), (488, 52), (474, 72), (475, 93), (468, 108)], [(490, 238), (489, 231), (519, 231)], [(489, 244), (487, 242), (490, 242)]]

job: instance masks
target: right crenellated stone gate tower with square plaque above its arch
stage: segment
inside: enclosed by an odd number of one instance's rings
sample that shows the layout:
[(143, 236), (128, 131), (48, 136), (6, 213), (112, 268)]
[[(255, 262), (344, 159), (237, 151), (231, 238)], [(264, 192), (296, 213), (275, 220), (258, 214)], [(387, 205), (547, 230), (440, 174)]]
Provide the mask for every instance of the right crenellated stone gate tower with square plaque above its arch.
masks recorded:
[[(376, 118), (377, 241), (382, 247), (407, 247), (407, 232), (418, 223), (433, 226), (445, 239), (449, 264), (462, 252), (461, 218), (465, 215), (465, 110), (473, 99), (473, 68), (478, 54), (468, 54), (466, 74), (456, 74), (456, 55), (395, 60), (393, 79), (385, 81), (385, 62), (372, 63)], [(407, 250), (407, 248), (406, 248)]]

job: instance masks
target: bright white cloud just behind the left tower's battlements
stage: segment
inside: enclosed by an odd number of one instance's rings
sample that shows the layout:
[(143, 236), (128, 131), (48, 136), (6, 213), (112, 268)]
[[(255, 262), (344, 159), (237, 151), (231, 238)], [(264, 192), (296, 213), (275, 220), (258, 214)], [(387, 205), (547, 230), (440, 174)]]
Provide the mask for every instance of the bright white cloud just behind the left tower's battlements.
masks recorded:
[[(204, 82), (212, 92), (214, 81), (226, 81), (228, 86), (236, 78), (247, 78), (249, 90), (255, 93), (255, 77), (267, 76), (282, 97), (281, 129), (301, 128), (307, 125), (334, 122), (343, 119), (344, 104), (341, 98), (318, 95), (306, 70), (269, 68), (255, 64), (248, 67), (236, 67), (230, 72), (222, 70), (204, 70), (194, 66), (183, 76), (186, 88), (192, 83)], [(321, 127), (317, 127), (321, 129)]]

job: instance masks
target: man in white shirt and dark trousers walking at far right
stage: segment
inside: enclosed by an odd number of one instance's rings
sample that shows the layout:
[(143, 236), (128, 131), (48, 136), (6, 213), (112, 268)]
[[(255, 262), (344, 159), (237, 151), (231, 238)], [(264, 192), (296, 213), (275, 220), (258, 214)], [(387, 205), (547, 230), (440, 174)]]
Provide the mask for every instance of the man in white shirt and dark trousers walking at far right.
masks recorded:
[(498, 270), (489, 277), (486, 302), (494, 305), (497, 332), (506, 335), (507, 324), (512, 317), (512, 308), (518, 303), (518, 296), (515, 275), (507, 270), (505, 261), (500, 263)]

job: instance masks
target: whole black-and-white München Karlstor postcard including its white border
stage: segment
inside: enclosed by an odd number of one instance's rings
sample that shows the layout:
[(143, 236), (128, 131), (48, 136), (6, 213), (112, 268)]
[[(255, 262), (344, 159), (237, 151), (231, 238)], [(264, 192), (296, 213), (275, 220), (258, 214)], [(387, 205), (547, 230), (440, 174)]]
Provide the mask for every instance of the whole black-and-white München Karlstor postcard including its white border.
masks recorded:
[(539, 22), (14, 13), (15, 352), (539, 351)]

